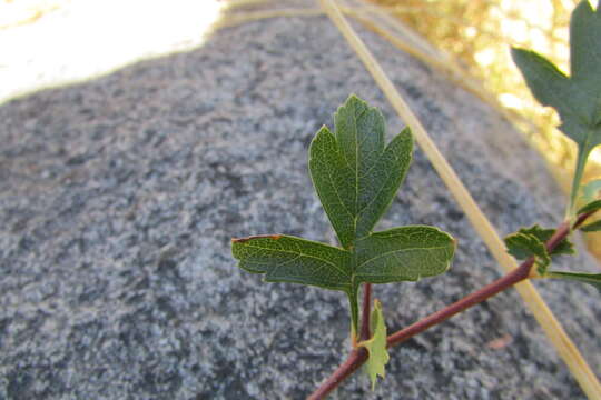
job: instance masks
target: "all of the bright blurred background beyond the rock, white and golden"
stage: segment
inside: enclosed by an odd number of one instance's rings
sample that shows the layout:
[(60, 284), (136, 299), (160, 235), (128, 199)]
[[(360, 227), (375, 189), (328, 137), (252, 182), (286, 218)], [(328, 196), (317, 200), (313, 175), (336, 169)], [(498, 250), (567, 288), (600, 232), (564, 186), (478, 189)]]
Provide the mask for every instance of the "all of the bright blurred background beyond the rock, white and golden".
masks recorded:
[[(578, 1), (368, 1), (449, 54), (465, 80), (477, 82), (489, 101), (524, 132), (548, 160), (562, 189), (569, 190), (575, 147), (555, 129), (556, 113), (534, 101), (509, 48), (533, 49), (569, 72), (569, 21)], [(317, 2), (308, 0), (306, 8), (296, 11), (245, 17), (244, 6), (257, 2), (260, 0), (0, 0), (0, 104), (40, 88), (191, 49), (203, 43), (211, 27), (319, 13)], [(357, 7), (356, 2), (345, 4)], [(367, 18), (361, 8), (355, 9), (355, 17), (362, 16)], [(373, 30), (377, 32), (377, 28)], [(591, 161), (584, 181), (601, 178), (599, 149)], [(601, 259), (601, 246), (595, 246), (601, 233), (589, 234), (588, 240)]]

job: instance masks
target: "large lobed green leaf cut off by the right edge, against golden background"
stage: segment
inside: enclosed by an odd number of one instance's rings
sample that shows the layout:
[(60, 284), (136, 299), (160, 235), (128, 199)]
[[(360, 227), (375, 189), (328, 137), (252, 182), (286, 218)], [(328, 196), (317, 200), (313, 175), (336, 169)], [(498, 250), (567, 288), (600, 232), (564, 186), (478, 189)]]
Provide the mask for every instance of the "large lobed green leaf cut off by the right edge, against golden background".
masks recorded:
[(578, 160), (570, 202), (570, 217), (591, 150), (601, 144), (601, 10), (583, 0), (570, 21), (571, 77), (534, 51), (512, 49), (532, 93), (543, 106), (553, 107), (560, 129), (578, 144)]

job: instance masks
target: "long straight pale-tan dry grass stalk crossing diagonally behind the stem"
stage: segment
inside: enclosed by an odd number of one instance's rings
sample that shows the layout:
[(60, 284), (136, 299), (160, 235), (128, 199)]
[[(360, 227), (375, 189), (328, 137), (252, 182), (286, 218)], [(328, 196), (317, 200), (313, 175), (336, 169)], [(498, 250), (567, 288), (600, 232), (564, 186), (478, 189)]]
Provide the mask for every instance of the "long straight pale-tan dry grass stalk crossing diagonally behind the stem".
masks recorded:
[[(467, 189), (463, 186), (462, 181), (453, 171), (449, 162), (441, 154), (434, 142), (430, 139), (422, 123), (411, 111), (392, 81), (383, 71), (380, 63), (370, 52), (365, 43), (358, 38), (353, 28), (348, 24), (338, 6), (334, 0), (321, 0), (321, 2), (334, 24), (341, 30), (353, 50), (365, 64), (366, 69), (373, 76), (374, 80), (381, 87), (393, 108), (412, 128), (415, 140), (424, 153), (426, 153), (433, 167), (445, 182), (457, 203), (464, 210), (472, 226), (482, 237), (494, 258), (505, 271), (516, 268), (515, 261), (505, 252), (505, 246), (495, 232), (491, 222), (480, 210)], [(568, 364), (572, 376), (580, 383), (582, 390), (590, 399), (601, 399), (601, 384), (597, 380), (597, 377), (591, 371), (584, 358), (580, 354), (574, 343), (568, 337), (560, 322), (555, 319), (534, 287), (530, 282), (523, 282), (516, 286), (516, 289), (548, 334), (558, 353)]]

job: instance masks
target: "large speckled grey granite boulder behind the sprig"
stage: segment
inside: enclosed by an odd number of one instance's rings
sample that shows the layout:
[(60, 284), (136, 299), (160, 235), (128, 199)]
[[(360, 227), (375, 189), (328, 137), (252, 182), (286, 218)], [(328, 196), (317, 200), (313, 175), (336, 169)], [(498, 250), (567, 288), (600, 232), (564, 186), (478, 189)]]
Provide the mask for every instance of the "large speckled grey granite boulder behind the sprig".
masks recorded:
[[(558, 188), (508, 122), (359, 31), (501, 233), (559, 222)], [(306, 397), (347, 352), (346, 300), (262, 283), (229, 243), (334, 242), (307, 147), (351, 92), (402, 128), (325, 17), (279, 18), (0, 108), (0, 399)], [(390, 329), (500, 276), (418, 150), (378, 229), (406, 223), (460, 247), (443, 277), (375, 287)], [(594, 290), (536, 286), (599, 371)], [(522, 304), (497, 296), (394, 349), (374, 393), (357, 376), (334, 398), (583, 399)]]

